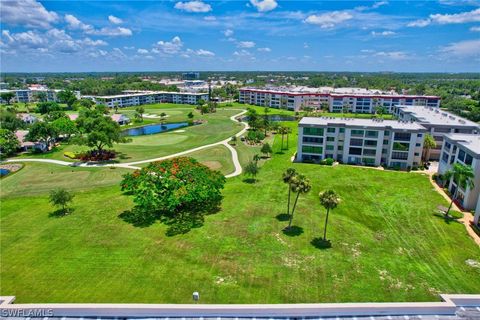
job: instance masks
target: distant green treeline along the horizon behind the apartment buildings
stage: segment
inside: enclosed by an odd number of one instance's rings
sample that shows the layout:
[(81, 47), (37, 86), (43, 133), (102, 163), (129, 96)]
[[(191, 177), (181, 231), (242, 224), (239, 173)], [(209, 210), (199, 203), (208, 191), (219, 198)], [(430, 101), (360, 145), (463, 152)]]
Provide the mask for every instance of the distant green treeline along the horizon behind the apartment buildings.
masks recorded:
[[(123, 90), (177, 91), (175, 86), (148, 80), (181, 78), (181, 74), (182, 72), (18, 73), (2, 74), (1, 77), (11, 88), (42, 82), (50, 88), (80, 90), (84, 95), (109, 95)], [(238, 86), (362, 87), (406, 94), (438, 95), (442, 98), (442, 107), (470, 120), (480, 121), (480, 73), (201, 72), (200, 79), (209, 79), (212, 83), (220, 79), (236, 80)], [(213, 93), (223, 98), (236, 98), (238, 86), (228, 85)]]

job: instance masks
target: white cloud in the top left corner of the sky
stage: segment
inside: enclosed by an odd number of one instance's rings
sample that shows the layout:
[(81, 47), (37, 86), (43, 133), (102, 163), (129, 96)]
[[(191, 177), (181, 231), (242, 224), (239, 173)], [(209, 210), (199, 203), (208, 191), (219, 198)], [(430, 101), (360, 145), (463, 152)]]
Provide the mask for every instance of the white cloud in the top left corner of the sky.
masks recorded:
[(47, 29), (59, 20), (54, 11), (48, 11), (35, 0), (1, 1), (2, 24)]

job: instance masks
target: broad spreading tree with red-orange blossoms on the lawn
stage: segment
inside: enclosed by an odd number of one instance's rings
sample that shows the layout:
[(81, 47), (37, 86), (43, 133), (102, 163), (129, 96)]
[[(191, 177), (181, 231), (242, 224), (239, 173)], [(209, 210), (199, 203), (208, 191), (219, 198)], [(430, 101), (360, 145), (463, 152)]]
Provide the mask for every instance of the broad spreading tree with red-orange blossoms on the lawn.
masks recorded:
[(220, 206), (225, 177), (193, 158), (152, 162), (124, 175), (121, 187), (133, 194), (140, 214), (173, 221), (203, 221)]

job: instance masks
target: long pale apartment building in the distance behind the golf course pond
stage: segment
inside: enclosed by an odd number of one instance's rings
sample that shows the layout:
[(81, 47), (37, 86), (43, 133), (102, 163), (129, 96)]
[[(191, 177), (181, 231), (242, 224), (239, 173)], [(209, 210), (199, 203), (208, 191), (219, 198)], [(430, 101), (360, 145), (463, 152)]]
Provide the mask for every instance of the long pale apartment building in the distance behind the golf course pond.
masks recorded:
[(208, 101), (208, 93), (166, 91), (126, 92), (114, 96), (96, 96), (94, 100), (97, 104), (105, 104), (111, 108), (115, 106), (122, 108), (165, 102), (195, 105), (198, 104), (200, 100)]

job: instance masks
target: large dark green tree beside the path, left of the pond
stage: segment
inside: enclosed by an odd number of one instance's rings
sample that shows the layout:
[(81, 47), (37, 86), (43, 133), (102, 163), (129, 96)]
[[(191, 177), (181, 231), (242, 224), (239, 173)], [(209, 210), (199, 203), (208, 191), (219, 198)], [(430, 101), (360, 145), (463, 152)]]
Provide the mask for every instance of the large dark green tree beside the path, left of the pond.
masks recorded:
[(84, 109), (77, 118), (79, 134), (74, 143), (95, 148), (101, 153), (105, 147), (113, 147), (114, 143), (125, 143), (130, 140), (122, 135), (120, 125), (110, 117), (105, 117), (102, 108)]

